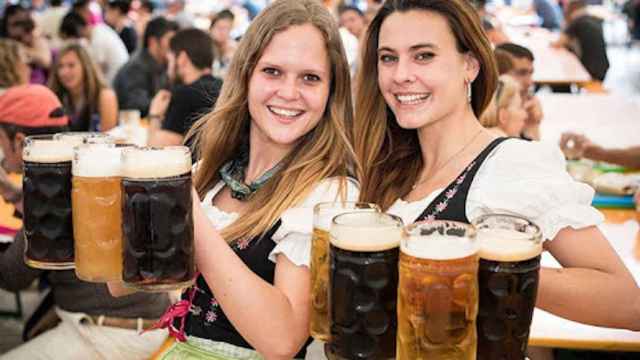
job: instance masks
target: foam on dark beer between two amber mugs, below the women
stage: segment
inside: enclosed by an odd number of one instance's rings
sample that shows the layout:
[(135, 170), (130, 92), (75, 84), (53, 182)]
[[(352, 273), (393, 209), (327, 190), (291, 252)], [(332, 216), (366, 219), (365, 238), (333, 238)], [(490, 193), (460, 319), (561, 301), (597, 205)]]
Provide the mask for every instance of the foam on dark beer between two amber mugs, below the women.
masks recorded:
[[(330, 242), (349, 251), (384, 251), (398, 247), (402, 227), (388, 215), (378, 212), (356, 213), (348, 221), (331, 226)], [(356, 215), (353, 214), (353, 215)], [(342, 218), (345, 220), (345, 218)]]

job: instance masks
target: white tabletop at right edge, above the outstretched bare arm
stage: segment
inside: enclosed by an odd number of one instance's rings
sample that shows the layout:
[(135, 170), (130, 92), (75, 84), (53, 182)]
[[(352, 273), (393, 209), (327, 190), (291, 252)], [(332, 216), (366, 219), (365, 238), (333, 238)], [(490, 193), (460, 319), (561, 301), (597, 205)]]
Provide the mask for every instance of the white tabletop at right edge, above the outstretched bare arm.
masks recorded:
[(543, 141), (563, 132), (586, 135), (606, 148), (640, 145), (640, 103), (617, 94), (540, 94)]

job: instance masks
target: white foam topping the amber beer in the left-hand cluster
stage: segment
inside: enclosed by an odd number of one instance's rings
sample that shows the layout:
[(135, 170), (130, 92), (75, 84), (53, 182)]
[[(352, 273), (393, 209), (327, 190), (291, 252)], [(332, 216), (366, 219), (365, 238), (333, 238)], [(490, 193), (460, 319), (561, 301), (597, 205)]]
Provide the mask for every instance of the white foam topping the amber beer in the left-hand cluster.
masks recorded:
[(71, 172), (82, 177), (122, 176), (122, 148), (92, 145), (76, 148)]

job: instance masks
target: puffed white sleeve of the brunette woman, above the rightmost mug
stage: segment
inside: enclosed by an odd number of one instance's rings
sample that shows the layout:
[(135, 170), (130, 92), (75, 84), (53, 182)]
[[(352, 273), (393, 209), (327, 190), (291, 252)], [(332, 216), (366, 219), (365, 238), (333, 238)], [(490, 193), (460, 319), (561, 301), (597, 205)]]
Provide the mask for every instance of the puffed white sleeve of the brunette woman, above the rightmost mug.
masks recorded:
[(581, 229), (604, 220), (591, 206), (594, 193), (567, 173), (555, 144), (509, 139), (478, 170), (467, 197), (467, 218), (523, 216), (540, 227), (544, 239), (553, 240), (566, 227)]

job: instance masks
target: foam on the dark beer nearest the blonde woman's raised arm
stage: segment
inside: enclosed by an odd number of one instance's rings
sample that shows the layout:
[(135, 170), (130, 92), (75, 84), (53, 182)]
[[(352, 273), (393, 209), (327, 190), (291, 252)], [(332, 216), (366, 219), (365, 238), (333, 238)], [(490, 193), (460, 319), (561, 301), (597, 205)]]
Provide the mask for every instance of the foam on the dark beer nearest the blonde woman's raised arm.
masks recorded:
[(154, 179), (191, 172), (191, 153), (185, 147), (126, 149), (122, 174), (131, 179)]

